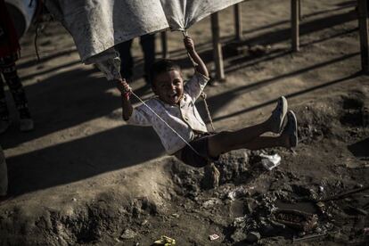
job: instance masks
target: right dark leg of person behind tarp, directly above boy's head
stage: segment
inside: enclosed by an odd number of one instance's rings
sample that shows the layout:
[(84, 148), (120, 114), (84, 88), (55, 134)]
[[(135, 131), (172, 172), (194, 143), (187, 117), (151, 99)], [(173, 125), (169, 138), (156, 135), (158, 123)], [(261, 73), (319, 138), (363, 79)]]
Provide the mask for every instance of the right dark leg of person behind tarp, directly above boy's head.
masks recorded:
[(140, 45), (143, 49), (143, 77), (146, 83), (149, 83), (150, 69), (155, 61), (155, 34), (146, 34), (140, 37)]

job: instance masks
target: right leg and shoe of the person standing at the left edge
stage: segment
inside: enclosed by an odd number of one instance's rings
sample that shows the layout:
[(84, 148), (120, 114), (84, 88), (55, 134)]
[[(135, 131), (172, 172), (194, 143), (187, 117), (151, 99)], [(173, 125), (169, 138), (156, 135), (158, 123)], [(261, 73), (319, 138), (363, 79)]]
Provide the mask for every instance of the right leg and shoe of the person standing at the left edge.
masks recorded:
[(17, 68), (12, 57), (5, 57), (0, 61), (0, 70), (2, 70), (6, 84), (12, 93), (17, 110), (20, 114), (21, 131), (33, 129), (33, 120), (29, 113), (29, 105), (26, 93), (21, 85), (21, 79), (18, 77)]

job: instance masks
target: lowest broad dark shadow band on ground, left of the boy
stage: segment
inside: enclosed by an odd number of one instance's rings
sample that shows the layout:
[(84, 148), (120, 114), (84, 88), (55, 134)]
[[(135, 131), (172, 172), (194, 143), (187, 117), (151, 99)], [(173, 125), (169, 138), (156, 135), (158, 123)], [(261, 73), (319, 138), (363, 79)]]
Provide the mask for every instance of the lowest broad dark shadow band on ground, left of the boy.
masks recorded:
[(7, 159), (9, 194), (17, 196), (70, 184), (152, 160), (162, 153), (152, 128), (116, 127)]

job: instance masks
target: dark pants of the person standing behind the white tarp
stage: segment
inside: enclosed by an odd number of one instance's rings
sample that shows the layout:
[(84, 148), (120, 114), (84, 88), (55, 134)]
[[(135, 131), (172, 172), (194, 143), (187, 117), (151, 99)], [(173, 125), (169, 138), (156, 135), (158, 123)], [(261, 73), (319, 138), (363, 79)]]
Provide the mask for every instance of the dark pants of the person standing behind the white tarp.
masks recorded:
[[(133, 77), (134, 61), (131, 53), (133, 39), (116, 45), (117, 51), (120, 56), (120, 75), (123, 78), (130, 79)], [(148, 76), (150, 74), (150, 68), (155, 61), (155, 35), (146, 34), (140, 37), (140, 45), (143, 49), (143, 77), (148, 82)]]

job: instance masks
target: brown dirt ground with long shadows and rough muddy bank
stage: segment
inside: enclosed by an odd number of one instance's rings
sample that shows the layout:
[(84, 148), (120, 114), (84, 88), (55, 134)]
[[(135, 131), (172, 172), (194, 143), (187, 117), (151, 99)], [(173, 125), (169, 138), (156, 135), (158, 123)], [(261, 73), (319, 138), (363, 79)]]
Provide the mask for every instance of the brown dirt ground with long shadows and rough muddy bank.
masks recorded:
[[(369, 245), (369, 81), (356, 3), (302, 1), (299, 53), (291, 53), (290, 1), (242, 3), (238, 43), (233, 9), (220, 12), (226, 81), (205, 90), (217, 131), (266, 119), (283, 94), (299, 146), (265, 150), (282, 157), (272, 171), (260, 152), (226, 154), (212, 189), (202, 169), (165, 155), (152, 128), (127, 126), (119, 93), (79, 61), (60, 24), (39, 34), (40, 62), (29, 32), (18, 67), (36, 129), (21, 133), (10, 103), (13, 124), (0, 144), (11, 198), (0, 203), (0, 244), (151, 245), (167, 235), (176, 245)], [(209, 18), (189, 33), (213, 71)], [(191, 76), (182, 35), (168, 33), (168, 46)], [(159, 36), (157, 47), (159, 58)], [(134, 55), (131, 86), (147, 99), (138, 40)]]

